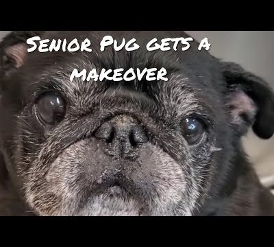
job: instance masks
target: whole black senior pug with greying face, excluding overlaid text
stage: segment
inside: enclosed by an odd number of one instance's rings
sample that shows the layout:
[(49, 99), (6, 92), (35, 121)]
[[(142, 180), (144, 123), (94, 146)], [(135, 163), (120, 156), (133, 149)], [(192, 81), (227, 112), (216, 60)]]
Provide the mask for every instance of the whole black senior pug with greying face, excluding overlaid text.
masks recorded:
[[(99, 52), (105, 35), (140, 49)], [(27, 52), (27, 38), (90, 39), (92, 53)], [(271, 87), (199, 51), (147, 51), (184, 32), (11, 32), (0, 45), (0, 214), (274, 215), (242, 148), (274, 132)], [(83, 82), (73, 69), (166, 68), (169, 80)]]

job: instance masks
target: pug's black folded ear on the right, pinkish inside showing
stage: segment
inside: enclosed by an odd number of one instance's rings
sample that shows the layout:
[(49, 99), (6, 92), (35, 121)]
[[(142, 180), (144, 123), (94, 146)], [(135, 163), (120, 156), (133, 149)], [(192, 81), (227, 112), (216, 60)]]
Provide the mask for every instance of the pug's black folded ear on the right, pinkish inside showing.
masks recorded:
[(231, 122), (242, 136), (250, 126), (262, 139), (274, 132), (274, 94), (262, 78), (245, 71), (233, 62), (221, 63), (227, 83), (227, 106)]

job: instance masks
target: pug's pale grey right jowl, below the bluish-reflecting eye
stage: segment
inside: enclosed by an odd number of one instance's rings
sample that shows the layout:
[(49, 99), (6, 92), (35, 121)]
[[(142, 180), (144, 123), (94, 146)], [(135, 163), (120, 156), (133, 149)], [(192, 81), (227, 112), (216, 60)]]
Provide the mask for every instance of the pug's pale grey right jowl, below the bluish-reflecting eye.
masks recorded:
[(185, 215), (189, 210), (184, 167), (155, 145), (147, 145), (140, 159), (140, 173), (134, 173), (133, 179), (138, 183), (138, 176), (142, 174), (149, 187), (153, 188), (151, 200), (148, 200), (151, 215)]

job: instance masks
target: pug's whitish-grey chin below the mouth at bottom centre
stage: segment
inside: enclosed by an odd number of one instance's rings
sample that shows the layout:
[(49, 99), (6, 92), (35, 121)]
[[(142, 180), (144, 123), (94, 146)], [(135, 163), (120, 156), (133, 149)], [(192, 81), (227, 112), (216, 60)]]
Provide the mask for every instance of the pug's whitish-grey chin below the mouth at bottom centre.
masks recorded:
[(144, 211), (136, 199), (125, 189), (113, 186), (93, 196), (77, 213), (84, 216), (141, 216)]

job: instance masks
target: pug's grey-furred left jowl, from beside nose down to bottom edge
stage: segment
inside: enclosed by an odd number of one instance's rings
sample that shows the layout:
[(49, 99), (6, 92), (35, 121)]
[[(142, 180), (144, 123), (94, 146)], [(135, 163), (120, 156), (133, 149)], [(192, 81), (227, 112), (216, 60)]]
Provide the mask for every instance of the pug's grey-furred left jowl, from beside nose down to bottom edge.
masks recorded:
[(27, 176), (27, 202), (40, 215), (75, 215), (92, 195), (104, 162), (110, 163), (101, 152), (96, 143), (86, 140), (64, 149), (51, 164), (41, 166), (37, 158)]

